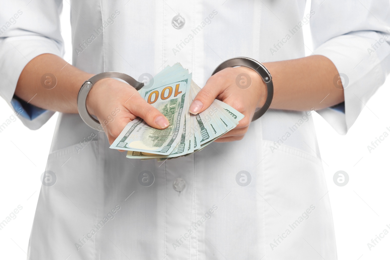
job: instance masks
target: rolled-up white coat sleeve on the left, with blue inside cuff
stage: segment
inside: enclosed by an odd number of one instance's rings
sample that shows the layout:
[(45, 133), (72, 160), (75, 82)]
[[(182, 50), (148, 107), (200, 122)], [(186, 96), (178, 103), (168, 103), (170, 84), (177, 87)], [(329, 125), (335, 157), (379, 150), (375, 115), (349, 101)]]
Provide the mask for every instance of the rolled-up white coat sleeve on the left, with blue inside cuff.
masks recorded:
[[(62, 0), (2, 1), (0, 8), (0, 96), (30, 129), (38, 129), (55, 113), (14, 96), (21, 71), (43, 53), (62, 57), (59, 15)], [(32, 96), (33, 98), (33, 96)]]

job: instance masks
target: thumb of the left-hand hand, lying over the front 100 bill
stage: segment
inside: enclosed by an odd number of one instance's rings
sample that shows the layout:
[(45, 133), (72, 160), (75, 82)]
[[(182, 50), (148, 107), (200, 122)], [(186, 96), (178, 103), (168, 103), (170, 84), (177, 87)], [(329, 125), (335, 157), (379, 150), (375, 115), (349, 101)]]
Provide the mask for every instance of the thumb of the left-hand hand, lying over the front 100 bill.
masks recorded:
[(168, 119), (142, 97), (134, 99), (129, 110), (137, 117), (144, 119), (151, 127), (164, 129), (169, 126)]

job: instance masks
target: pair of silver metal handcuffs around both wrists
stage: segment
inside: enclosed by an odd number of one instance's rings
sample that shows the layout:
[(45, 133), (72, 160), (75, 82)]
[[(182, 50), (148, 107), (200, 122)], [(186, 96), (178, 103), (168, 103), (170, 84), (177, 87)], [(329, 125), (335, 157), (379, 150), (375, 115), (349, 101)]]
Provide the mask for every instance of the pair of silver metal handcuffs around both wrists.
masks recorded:
[[(269, 73), (268, 69), (264, 67), (263, 64), (260, 62), (251, 59), (251, 58), (246, 58), (246, 57), (236, 57), (236, 58), (231, 58), (229, 60), (226, 60), (222, 62), (213, 72), (212, 75), (217, 73), (218, 71), (221, 71), (225, 68), (228, 67), (236, 67), (236, 66), (243, 66), (243, 67), (248, 67), (251, 69), (254, 69), (262, 78), (264, 83), (267, 85), (267, 98), (264, 103), (264, 105), (254, 113), (252, 121), (258, 119), (264, 113), (268, 110), (269, 105), (271, 104), (272, 98), (273, 98), (273, 83), (272, 83), (272, 76)], [(98, 130), (98, 131), (103, 131), (103, 127), (101, 127), (100, 123), (98, 120), (94, 119), (90, 113), (87, 110), (87, 96), (89, 91), (92, 89), (92, 86), (99, 80), (102, 80), (104, 78), (119, 78), (121, 80), (126, 81), (129, 85), (134, 87), (136, 90), (140, 90), (142, 87), (144, 87), (144, 83), (138, 82), (131, 76), (120, 73), (120, 72), (115, 72), (115, 71), (108, 71), (108, 72), (103, 72), (100, 74), (96, 74), (89, 80), (85, 81), (83, 85), (80, 88), (80, 91), (78, 92), (77, 96), (77, 107), (78, 107), (78, 113), (80, 114), (80, 117), (83, 119), (85, 124), (88, 126)]]

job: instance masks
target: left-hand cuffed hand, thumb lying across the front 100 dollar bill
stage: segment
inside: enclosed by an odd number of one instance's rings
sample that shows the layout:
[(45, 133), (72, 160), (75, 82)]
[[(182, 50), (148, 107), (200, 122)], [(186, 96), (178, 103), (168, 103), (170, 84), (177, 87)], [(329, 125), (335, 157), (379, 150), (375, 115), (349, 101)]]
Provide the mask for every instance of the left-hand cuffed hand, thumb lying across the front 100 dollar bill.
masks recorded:
[(136, 117), (144, 119), (149, 126), (157, 129), (169, 126), (168, 119), (148, 104), (135, 88), (112, 78), (96, 82), (87, 96), (87, 110), (97, 117), (110, 144), (128, 122)]

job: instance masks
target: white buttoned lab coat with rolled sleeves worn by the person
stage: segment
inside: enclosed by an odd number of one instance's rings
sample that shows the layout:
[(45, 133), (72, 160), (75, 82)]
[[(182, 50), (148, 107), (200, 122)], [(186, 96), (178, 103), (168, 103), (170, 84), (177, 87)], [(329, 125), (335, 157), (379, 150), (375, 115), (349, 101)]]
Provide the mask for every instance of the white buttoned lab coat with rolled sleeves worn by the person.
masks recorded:
[[(73, 65), (137, 79), (180, 62), (202, 86), (228, 58), (269, 62), (305, 56), (303, 0), (126, 2), (70, 1)], [(62, 1), (26, 4), (4, 1), (0, 9), (0, 25), (23, 12), (0, 35), (0, 93), (8, 103), (28, 60), (64, 54)], [(314, 54), (330, 58), (349, 82), (345, 113), (318, 112), (345, 134), (388, 74), (389, 3), (315, 0), (311, 9)], [(181, 29), (172, 26), (175, 12), (185, 19)], [(182, 41), (186, 44), (179, 49)], [(376, 41), (381, 45), (369, 52)], [(53, 113), (19, 118), (37, 129)], [(126, 159), (78, 114), (60, 113), (46, 166), (57, 180), (41, 188), (28, 255), (41, 260), (337, 259), (313, 120), (305, 113), (269, 110), (252, 122), (243, 140), (213, 143), (163, 164)], [(138, 182), (142, 171), (154, 175), (151, 186)], [(240, 171), (250, 176), (236, 181)], [(178, 178), (185, 181), (181, 192), (173, 186)], [(249, 184), (240, 186), (240, 178)]]

